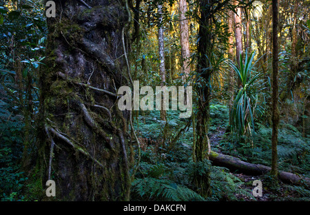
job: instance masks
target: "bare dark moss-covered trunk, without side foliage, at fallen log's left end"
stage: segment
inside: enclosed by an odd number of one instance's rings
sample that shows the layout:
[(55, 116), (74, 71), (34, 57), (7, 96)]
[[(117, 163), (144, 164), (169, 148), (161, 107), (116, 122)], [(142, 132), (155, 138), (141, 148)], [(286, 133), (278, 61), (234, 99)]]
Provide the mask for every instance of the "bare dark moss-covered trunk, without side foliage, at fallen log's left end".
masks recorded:
[[(212, 34), (211, 34), (211, 13), (212, 2), (200, 1), (200, 19), (199, 19), (199, 42), (197, 47), (197, 72), (200, 74), (200, 84), (196, 85), (198, 94), (198, 112), (196, 121), (196, 136), (193, 147), (193, 160), (198, 165), (198, 168), (206, 167), (203, 165), (208, 160), (209, 139), (207, 133), (209, 131), (209, 103), (210, 103), (210, 88), (209, 77), (212, 70), (207, 57), (210, 57), (212, 50)], [(199, 167), (200, 166), (200, 167)], [(202, 196), (211, 194), (209, 170), (199, 170), (194, 174), (194, 186)]]

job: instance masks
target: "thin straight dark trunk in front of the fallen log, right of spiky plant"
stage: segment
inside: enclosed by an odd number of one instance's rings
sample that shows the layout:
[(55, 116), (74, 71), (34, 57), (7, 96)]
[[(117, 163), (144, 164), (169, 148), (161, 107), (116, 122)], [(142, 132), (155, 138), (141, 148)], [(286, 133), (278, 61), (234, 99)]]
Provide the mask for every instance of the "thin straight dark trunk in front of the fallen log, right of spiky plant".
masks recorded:
[(278, 0), (272, 0), (272, 136), (271, 136), (271, 174), (278, 175)]

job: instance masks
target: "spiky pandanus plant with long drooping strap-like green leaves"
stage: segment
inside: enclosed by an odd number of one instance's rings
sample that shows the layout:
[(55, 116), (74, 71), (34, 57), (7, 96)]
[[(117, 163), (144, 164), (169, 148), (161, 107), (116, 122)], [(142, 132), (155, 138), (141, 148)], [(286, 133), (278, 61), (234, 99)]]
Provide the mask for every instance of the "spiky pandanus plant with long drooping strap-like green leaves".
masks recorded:
[[(237, 134), (240, 138), (242, 136), (251, 136), (251, 125), (254, 130), (254, 112), (258, 101), (258, 92), (262, 86), (259, 81), (260, 73), (254, 71), (254, 56), (255, 52), (251, 54), (245, 53), (245, 61), (243, 62), (240, 56), (240, 66), (235, 65), (229, 61), (229, 65), (236, 72), (238, 81), (238, 94), (234, 100), (234, 104), (230, 110), (231, 132)], [(249, 134), (249, 135), (248, 135)]]

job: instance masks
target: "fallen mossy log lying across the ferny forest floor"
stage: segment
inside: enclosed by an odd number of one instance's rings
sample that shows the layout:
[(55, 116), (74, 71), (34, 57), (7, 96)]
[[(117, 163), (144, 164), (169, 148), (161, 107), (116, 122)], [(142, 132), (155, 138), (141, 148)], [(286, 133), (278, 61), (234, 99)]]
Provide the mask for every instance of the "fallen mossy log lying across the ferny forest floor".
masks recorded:
[[(209, 154), (209, 159), (214, 165), (227, 167), (231, 171), (242, 172), (251, 176), (267, 174), (271, 171), (271, 167), (254, 163), (247, 163), (245, 161), (241, 161), (239, 158), (213, 151), (211, 151)], [(284, 183), (300, 183), (303, 180), (305, 183), (307, 183), (308, 186), (310, 186), (310, 178), (302, 178), (291, 172), (279, 171), (279, 178)]]

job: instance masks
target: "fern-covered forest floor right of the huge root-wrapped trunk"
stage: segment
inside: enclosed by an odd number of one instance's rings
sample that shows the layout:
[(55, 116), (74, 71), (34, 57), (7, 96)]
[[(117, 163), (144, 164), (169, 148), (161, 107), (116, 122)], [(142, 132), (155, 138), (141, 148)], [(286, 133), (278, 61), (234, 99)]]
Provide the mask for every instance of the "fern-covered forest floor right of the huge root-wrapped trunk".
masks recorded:
[[(154, 198), (155, 184), (164, 183), (165, 186), (173, 185), (193, 189), (191, 181), (192, 172), (195, 170), (192, 162), (193, 127), (189, 127), (180, 135), (174, 149), (169, 150), (170, 141), (186, 124), (186, 119), (179, 119), (178, 112), (167, 112), (166, 143), (163, 142), (165, 121), (159, 120), (159, 112), (145, 112), (135, 121), (135, 129), (143, 145), (141, 154), (140, 175), (137, 180), (140, 183), (134, 185), (137, 201), (158, 200)], [(256, 123), (256, 134), (253, 145), (242, 143), (236, 137), (227, 133), (229, 112), (226, 105), (212, 103), (210, 106), (211, 122), (209, 127), (209, 141), (211, 150), (229, 156), (240, 158), (241, 161), (261, 165), (270, 165), (271, 162), (271, 127)], [(170, 140), (169, 140), (170, 139)], [(310, 142), (309, 138), (287, 123), (282, 122), (278, 143), (279, 170), (293, 172), (304, 177), (310, 176)], [(199, 167), (200, 168), (200, 167)], [(305, 185), (288, 185), (274, 181), (270, 175), (251, 176), (240, 172), (231, 172), (225, 167), (212, 165), (211, 187), (213, 194), (208, 201), (309, 201), (310, 190)], [(147, 176), (147, 180), (144, 180)], [(143, 183), (141, 183), (143, 179)], [(254, 197), (252, 190), (255, 180), (262, 181), (262, 196)], [(156, 183), (154, 183), (156, 182)], [(147, 187), (147, 189), (145, 188)], [(149, 193), (139, 192), (149, 190)], [(148, 197), (148, 196), (152, 196)], [(161, 196), (161, 194), (158, 194)], [(161, 200), (166, 200), (161, 196)], [(171, 198), (168, 198), (171, 199)], [(186, 200), (185, 200), (186, 201)], [(189, 201), (187, 199), (187, 201)]]

